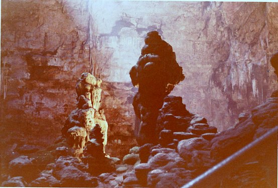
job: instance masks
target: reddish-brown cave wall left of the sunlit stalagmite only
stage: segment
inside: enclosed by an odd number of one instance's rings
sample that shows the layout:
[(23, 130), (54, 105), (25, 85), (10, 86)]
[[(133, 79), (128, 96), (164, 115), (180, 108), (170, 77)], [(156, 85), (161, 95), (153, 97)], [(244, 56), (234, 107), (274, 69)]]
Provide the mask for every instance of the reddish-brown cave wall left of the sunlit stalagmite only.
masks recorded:
[(72, 17), (86, 8), (76, 10), (62, 1), (2, 1), (2, 134), (44, 144), (61, 134), (76, 81), (90, 70), (86, 20)]

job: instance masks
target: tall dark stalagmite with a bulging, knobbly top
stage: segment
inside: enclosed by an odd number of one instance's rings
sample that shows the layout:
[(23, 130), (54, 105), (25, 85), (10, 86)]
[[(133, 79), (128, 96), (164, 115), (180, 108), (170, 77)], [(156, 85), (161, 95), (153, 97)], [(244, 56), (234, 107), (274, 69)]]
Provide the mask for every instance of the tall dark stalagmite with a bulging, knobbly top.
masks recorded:
[(176, 61), (172, 46), (157, 31), (147, 34), (145, 46), (129, 72), (138, 92), (133, 98), (136, 114), (135, 136), (138, 144), (158, 141), (157, 117), (164, 98), (184, 80), (182, 67)]

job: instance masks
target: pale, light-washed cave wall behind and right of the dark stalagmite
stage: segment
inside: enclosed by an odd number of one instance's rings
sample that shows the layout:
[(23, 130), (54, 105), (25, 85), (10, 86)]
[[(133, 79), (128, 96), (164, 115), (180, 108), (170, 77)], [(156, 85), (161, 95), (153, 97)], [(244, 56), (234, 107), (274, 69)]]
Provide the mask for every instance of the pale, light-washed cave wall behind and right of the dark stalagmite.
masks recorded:
[(233, 126), (239, 113), (277, 88), (269, 63), (278, 41), (276, 3), (95, 2), (92, 7), (98, 49), (109, 56), (99, 62), (105, 79), (129, 82), (146, 33), (157, 30), (173, 46), (185, 74), (172, 94), (219, 130)]

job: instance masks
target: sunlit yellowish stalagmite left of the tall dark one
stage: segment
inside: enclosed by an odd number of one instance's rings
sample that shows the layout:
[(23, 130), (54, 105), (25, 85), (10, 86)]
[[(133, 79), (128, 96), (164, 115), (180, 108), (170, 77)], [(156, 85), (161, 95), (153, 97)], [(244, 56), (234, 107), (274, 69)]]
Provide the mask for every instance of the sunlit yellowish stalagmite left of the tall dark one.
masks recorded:
[[(83, 73), (76, 83), (77, 108), (71, 112), (62, 129), (74, 156), (83, 156), (86, 143), (101, 144), (100, 150), (105, 154), (108, 124), (103, 109), (100, 109), (101, 82), (90, 73)], [(99, 128), (98, 134), (94, 134), (96, 127)], [(97, 140), (90, 135), (95, 136)], [(94, 140), (90, 140), (91, 138)], [(97, 149), (99, 151), (99, 147)]]

